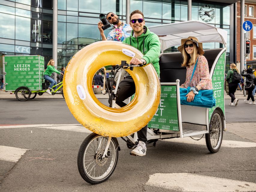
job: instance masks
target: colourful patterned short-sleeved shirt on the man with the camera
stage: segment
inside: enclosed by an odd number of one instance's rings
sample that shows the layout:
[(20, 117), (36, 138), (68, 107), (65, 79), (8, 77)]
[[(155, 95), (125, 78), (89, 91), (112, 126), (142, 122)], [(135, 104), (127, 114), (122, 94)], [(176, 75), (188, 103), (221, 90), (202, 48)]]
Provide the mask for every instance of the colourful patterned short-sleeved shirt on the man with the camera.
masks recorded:
[[(120, 29), (120, 30), (119, 30)], [(121, 24), (119, 28), (113, 29), (109, 34), (107, 35), (107, 40), (113, 40), (113, 41), (124, 41), (125, 38), (128, 38), (131, 33), (127, 33), (128, 30), (132, 30), (130, 25), (124, 23)]]

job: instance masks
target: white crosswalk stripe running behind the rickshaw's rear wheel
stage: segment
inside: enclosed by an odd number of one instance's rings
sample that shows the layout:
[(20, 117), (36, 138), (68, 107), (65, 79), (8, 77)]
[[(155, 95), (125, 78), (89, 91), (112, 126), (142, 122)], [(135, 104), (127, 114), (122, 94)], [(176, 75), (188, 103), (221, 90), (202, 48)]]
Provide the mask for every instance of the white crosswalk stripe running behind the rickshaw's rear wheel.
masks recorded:
[[(204, 138), (202, 138), (199, 141), (193, 140), (190, 137), (165, 139), (163, 141), (176, 142), (176, 143), (188, 143), (188, 144), (196, 144), (196, 145), (204, 145), (204, 146), (206, 145)], [(254, 143), (254, 142), (243, 142), (243, 141), (222, 140), (221, 147), (230, 147), (230, 148), (256, 147), (256, 143)]]

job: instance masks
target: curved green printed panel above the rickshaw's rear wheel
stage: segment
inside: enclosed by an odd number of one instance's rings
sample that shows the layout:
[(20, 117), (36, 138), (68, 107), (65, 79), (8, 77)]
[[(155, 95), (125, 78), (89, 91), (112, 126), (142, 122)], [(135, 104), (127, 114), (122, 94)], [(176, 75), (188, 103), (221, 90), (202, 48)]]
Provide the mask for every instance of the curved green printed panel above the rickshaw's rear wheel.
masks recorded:
[(224, 74), (225, 74), (225, 58), (226, 52), (222, 53), (218, 62), (215, 66), (213, 75), (212, 75), (212, 87), (213, 87), (213, 97), (216, 99), (216, 106), (209, 108), (209, 122), (211, 116), (216, 107), (220, 107), (224, 111)]

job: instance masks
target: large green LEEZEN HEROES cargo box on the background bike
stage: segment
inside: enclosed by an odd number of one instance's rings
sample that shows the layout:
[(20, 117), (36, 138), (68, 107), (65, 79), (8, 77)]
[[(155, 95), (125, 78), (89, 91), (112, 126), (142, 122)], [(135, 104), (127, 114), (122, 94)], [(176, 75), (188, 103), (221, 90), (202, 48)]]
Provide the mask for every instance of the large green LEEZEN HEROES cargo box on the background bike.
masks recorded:
[(5, 56), (3, 58), (5, 90), (15, 91), (21, 86), (42, 90), (44, 57), (39, 55)]

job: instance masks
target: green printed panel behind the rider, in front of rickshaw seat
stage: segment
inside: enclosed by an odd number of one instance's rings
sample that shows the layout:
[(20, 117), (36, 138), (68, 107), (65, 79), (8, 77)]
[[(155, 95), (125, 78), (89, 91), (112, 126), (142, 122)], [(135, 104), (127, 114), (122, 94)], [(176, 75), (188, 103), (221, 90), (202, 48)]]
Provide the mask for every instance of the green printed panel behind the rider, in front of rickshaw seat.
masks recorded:
[(179, 131), (176, 85), (161, 85), (160, 104), (148, 127)]

